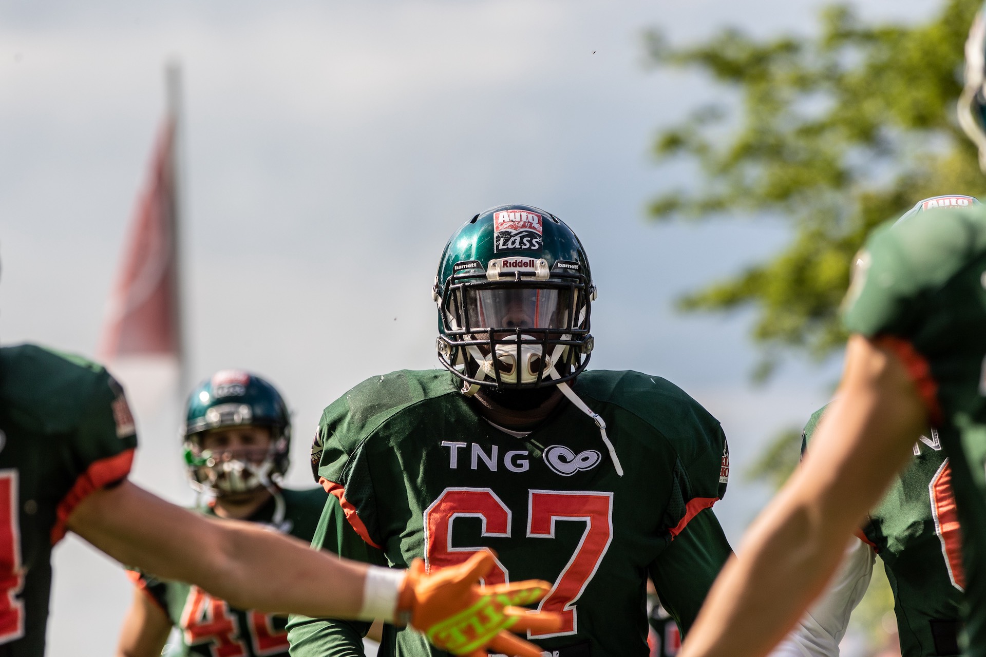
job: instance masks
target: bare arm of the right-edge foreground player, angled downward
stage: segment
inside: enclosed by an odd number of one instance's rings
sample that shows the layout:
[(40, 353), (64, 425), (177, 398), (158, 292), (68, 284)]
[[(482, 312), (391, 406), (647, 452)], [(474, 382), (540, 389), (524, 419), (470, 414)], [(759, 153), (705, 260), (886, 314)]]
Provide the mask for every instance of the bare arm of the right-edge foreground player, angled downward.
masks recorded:
[(821, 592), (927, 420), (903, 363), (851, 337), (839, 393), (808, 456), (746, 533), (681, 657), (767, 654)]

